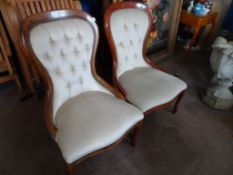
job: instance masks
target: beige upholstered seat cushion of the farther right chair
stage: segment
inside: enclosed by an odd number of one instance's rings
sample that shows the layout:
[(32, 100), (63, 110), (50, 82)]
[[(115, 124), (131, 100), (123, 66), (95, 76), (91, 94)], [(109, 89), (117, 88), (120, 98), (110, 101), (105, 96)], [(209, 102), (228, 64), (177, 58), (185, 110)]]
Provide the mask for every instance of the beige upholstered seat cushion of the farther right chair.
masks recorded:
[(171, 101), (187, 88), (182, 80), (150, 67), (126, 71), (119, 82), (127, 93), (127, 100), (143, 112)]

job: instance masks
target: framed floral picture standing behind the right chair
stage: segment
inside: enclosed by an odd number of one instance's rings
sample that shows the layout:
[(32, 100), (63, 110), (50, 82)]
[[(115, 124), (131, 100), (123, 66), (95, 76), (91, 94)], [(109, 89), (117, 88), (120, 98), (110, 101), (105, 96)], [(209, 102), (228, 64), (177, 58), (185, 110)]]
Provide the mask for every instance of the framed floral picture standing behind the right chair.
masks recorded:
[[(171, 55), (174, 51), (183, 0), (144, 0), (143, 3), (150, 8), (153, 18), (157, 18), (153, 19), (154, 28), (148, 40), (147, 53), (151, 59), (158, 61)], [(164, 4), (170, 5), (170, 7), (165, 7)], [(165, 22), (168, 23), (166, 26), (158, 24), (164, 22), (163, 18), (170, 18), (165, 19)]]

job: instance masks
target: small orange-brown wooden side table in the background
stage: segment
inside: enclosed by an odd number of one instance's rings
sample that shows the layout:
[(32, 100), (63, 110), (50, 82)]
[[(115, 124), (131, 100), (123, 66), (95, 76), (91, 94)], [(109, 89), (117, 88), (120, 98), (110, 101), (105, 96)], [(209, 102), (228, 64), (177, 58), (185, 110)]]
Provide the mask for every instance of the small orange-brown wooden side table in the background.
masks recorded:
[(192, 37), (192, 41), (189, 44), (188, 50), (191, 51), (193, 44), (196, 42), (197, 36), (200, 33), (200, 29), (202, 27), (207, 26), (208, 24), (211, 24), (211, 29), (207, 33), (205, 39), (204, 39), (204, 44), (205, 45), (210, 37), (210, 35), (213, 33), (214, 28), (215, 28), (215, 21), (217, 19), (217, 12), (210, 11), (207, 15), (205, 16), (197, 16), (193, 13), (188, 13), (187, 11), (183, 10), (180, 15), (180, 23), (186, 24), (189, 26), (194, 27), (194, 34)]

